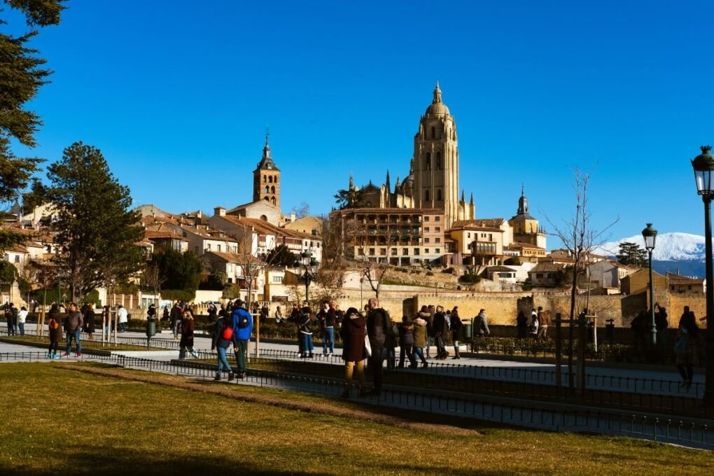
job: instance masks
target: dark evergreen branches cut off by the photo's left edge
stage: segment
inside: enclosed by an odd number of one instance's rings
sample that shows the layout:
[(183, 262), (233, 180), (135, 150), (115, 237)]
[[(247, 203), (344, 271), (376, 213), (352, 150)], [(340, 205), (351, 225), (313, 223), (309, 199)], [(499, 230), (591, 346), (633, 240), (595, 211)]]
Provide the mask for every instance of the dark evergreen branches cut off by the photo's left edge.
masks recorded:
[[(63, 0), (5, 0), (4, 4), (24, 14), (28, 26), (59, 24), (64, 9)], [(0, 19), (0, 24), (7, 21)], [(37, 96), (40, 86), (51, 74), (41, 66), (44, 58), (27, 44), (36, 30), (22, 36), (0, 34), (0, 206), (6, 209), (26, 187), (27, 181), (39, 168), (40, 158), (17, 157), (11, 151), (15, 140), (27, 147), (36, 146), (34, 134), (42, 121), (24, 106)], [(0, 219), (4, 213), (0, 211)], [(24, 240), (24, 236), (0, 228), (0, 251)]]

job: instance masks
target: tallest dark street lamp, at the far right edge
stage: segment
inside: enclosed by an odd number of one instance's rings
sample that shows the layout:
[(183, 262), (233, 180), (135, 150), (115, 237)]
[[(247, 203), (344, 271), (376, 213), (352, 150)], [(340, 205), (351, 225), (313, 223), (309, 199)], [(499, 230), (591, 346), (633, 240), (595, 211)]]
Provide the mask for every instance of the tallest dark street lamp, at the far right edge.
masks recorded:
[(692, 161), (694, 180), (697, 183), (697, 193), (704, 201), (704, 234), (705, 234), (705, 268), (706, 268), (706, 299), (707, 299), (707, 333), (706, 333), (706, 384), (704, 389), (704, 404), (714, 407), (714, 323), (710, 316), (714, 313), (714, 273), (712, 272), (712, 213), (711, 202), (714, 196), (712, 172), (714, 157), (711, 146), (702, 146), (702, 153)]

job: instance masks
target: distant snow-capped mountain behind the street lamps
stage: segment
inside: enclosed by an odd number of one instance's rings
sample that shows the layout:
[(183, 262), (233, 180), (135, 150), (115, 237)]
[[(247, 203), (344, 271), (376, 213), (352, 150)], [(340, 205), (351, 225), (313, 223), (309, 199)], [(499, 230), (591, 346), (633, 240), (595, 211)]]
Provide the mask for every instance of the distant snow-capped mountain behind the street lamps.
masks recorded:
[[(617, 241), (604, 243), (598, 248), (598, 253), (615, 256), (620, 243), (629, 241), (645, 248), (642, 235), (630, 236)], [(684, 276), (703, 278), (704, 270), (704, 243), (705, 238), (689, 233), (661, 233), (655, 241), (655, 250), (652, 253), (653, 268), (656, 272), (679, 273)]]

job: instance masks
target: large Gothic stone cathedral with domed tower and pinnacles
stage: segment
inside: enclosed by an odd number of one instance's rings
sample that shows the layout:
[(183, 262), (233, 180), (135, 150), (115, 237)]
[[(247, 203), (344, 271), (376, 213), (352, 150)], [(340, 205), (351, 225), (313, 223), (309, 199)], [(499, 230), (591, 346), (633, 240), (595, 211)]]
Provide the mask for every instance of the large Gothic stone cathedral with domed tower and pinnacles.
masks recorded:
[[(350, 176), (349, 188), (356, 190)], [(460, 220), (473, 220), (476, 208), (471, 200), (466, 202), (466, 193), (458, 196), (458, 138), (456, 120), (441, 101), (438, 82), (433, 100), (419, 119), (419, 128), (414, 136), (414, 153), (409, 173), (400, 181), (399, 176), (392, 187), (389, 172), (381, 186), (371, 181), (361, 188), (361, 208), (420, 208), (443, 211), (446, 228)]]

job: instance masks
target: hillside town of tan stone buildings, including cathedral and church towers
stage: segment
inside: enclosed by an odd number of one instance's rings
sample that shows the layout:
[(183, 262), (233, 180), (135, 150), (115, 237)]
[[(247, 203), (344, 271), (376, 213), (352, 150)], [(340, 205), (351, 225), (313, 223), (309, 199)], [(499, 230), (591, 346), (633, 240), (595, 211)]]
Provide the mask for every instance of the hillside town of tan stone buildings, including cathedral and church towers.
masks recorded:
[[(537, 305), (565, 313), (573, 273), (578, 296), (599, 316), (598, 325), (613, 320), (626, 327), (648, 306), (646, 263), (597, 250), (575, 263), (573, 250), (548, 250), (548, 232), (531, 214), (525, 186), (513, 198), (513, 216), (478, 217), (473, 193), (469, 201), (465, 191), (459, 193), (458, 160), (456, 120), (437, 83), (419, 118), (403, 180), (398, 176), (392, 185), (387, 171), (381, 186), (372, 181), (356, 186), (350, 177), (347, 188), (336, 191), (345, 201), (331, 213), (298, 216), (281, 208), (281, 185), (291, 178), (281, 176), (266, 133), (252, 171), (253, 195), (245, 197), (250, 201), (216, 204), (212, 214), (173, 213), (154, 204), (134, 208), (143, 230), (134, 245), (146, 265), (125, 283), (96, 288), (96, 302), (121, 304), (133, 316), (146, 315), (151, 303), (171, 306), (175, 290), (164, 286), (162, 292), (166, 276), (152, 268), (152, 257), (173, 250), (193, 253), (201, 263), (200, 284), (179, 293), (183, 300), (201, 305), (240, 298), (267, 306), (271, 314), (277, 306), (300, 303), (306, 292), (316, 303), (327, 299), (343, 308), (363, 308), (365, 296), (376, 293), (394, 315), (412, 313), (424, 298), (441, 294), (468, 317), (488, 307), (492, 323), (515, 325), (519, 311), (529, 313)], [(6, 215), (4, 227), (26, 240), (4, 250), (17, 278), (1, 282), (3, 303), (33, 310), (51, 305), (39, 290), (46, 291), (48, 276), (41, 275), (52, 275), (47, 268), (60, 248), (54, 210), (52, 203), (41, 203), (23, 213), (16, 203)], [(49, 284), (67, 300), (61, 270), (53, 276)], [(660, 305), (675, 310), (689, 305), (704, 314), (703, 279), (655, 273), (654, 286)]]

